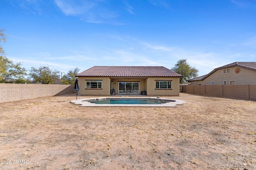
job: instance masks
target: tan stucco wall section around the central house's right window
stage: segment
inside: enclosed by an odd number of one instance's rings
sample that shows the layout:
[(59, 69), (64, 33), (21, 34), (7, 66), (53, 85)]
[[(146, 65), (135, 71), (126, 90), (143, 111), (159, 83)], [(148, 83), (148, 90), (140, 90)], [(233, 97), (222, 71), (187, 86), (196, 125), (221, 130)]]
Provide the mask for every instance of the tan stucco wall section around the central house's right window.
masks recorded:
[[(156, 80), (172, 80), (172, 89), (156, 89)], [(179, 96), (180, 78), (179, 77), (150, 77), (147, 82), (147, 95), (150, 96)]]

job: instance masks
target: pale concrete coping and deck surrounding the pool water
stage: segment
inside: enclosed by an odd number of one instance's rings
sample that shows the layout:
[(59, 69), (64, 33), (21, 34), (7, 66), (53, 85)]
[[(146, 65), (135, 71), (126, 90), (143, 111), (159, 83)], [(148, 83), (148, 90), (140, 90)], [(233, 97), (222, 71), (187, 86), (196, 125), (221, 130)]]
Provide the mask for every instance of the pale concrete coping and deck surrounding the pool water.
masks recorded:
[[(86, 102), (89, 100), (105, 100), (105, 99), (153, 99), (153, 100), (169, 100), (172, 102), (167, 102), (164, 104), (95, 104)], [(174, 101), (174, 102), (173, 102)], [(183, 105), (186, 103), (183, 100), (177, 99), (167, 99), (167, 98), (153, 98), (153, 97), (99, 97), (99, 98), (85, 98), (79, 100), (72, 100), (70, 103), (80, 104), (80, 107), (177, 107), (177, 105)]]

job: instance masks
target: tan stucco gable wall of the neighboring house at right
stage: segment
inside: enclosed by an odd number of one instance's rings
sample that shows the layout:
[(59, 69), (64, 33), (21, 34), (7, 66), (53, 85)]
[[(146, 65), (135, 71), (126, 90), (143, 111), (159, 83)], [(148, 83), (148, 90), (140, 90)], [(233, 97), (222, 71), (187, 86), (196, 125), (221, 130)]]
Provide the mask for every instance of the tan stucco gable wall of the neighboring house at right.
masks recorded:
[[(240, 68), (240, 73), (236, 74), (236, 68)], [(230, 80), (235, 80), (236, 85), (256, 84), (256, 71), (234, 66), (230, 67), (230, 74), (223, 74), (223, 69), (216, 70), (202, 81), (191, 81), (190, 85), (211, 85), (211, 81), (214, 81), (214, 85), (223, 85), (224, 80), (228, 85)]]

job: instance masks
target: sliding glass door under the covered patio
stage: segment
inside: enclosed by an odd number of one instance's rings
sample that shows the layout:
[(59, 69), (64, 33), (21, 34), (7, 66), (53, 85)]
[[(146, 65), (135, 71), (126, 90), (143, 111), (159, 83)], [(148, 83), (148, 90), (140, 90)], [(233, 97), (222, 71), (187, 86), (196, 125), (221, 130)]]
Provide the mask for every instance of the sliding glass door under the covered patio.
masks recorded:
[(139, 94), (139, 82), (119, 82), (118, 93), (130, 92)]

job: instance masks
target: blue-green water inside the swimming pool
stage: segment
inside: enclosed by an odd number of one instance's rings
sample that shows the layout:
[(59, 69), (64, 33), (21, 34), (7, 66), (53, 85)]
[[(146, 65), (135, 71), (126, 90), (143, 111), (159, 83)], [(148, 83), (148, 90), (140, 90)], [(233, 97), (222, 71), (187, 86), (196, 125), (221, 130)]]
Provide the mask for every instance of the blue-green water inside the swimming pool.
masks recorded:
[(90, 100), (86, 101), (95, 104), (164, 104), (167, 102), (174, 102), (174, 101), (167, 101), (167, 100), (150, 100), (150, 99), (105, 99), (105, 100)]

